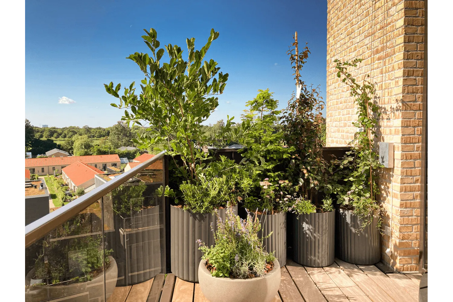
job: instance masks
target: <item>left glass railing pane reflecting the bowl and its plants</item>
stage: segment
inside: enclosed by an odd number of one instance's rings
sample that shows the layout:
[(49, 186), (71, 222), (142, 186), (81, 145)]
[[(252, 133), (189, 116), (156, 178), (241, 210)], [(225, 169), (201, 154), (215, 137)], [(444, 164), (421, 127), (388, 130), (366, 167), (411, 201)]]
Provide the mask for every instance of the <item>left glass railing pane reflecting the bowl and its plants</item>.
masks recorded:
[(93, 203), (25, 249), (24, 301), (104, 301), (104, 271), (114, 264), (104, 248), (101, 206)]

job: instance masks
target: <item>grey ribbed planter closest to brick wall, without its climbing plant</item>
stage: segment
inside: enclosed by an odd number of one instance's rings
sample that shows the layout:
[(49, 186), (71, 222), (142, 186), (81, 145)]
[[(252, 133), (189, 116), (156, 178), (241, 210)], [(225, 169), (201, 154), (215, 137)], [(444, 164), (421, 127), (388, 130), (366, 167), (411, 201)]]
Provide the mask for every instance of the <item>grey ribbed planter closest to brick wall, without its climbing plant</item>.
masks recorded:
[(381, 234), (377, 227), (378, 218), (363, 231), (358, 229), (361, 221), (350, 210), (338, 209), (336, 215), (336, 254), (352, 264), (371, 265), (381, 260)]

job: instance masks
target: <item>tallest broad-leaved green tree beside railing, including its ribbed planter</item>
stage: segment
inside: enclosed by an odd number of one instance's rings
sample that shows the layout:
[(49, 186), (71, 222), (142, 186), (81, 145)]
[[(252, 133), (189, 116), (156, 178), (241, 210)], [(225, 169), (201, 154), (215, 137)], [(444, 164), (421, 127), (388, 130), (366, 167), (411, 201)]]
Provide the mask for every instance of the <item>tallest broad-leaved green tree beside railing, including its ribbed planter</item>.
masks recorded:
[[(203, 62), (212, 41), (219, 36), (214, 29), (200, 50), (195, 50), (195, 38), (186, 40), (187, 60), (183, 59), (180, 47), (167, 45), (168, 62), (161, 61), (165, 50), (159, 48), (156, 31), (145, 32), (142, 38), (152, 55), (134, 53), (129, 56), (145, 75), (140, 94), (135, 94), (135, 83), (125, 88), (123, 96), (118, 94), (120, 84), (114, 87), (111, 82), (105, 88), (119, 99), (119, 104), (112, 106), (128, 109), (122, 120), (128, 124), (152, 125), (138, 134), (138, 139), (134, 140), (136, 145), (141, 149), (168, 150), (173, 186), (160, 187), (157, 194), (171, 197), (173, 201), (170, 207), (171, 267), (179, 278), (196, 282), (201, 252), (193, 238), (209, 242), (214, 213), (224, 216), (221, 208), (241, 195), (236, 192), (237, 165), (223, 161), (220, 163), (223, 168), (211, 166), (212, 153), (203, 148), (211, 144), (202, 131), (202, 123), (217, 108), (217, 95), (223, 92), (228, 74), (219, 72), (220, 67), (212, 59)], [(226, 119), (218, 137), (223, 138), (230, 131), (232, 120)], [(223, 172), (227, 168), (228, 173)]]

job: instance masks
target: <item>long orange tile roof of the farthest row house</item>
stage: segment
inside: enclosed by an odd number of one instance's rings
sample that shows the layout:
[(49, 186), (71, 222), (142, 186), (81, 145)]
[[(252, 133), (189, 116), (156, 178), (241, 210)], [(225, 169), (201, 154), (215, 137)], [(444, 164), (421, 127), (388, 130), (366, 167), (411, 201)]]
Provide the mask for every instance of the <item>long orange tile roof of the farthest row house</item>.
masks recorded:
[(118, 154), (67, 156), (67, 157), (44, 157), (25, 158), (25, 168), (46, 167), (46, 166), (68, 166), (75, 162), (81, 163), (111, 163), (120, 162)]

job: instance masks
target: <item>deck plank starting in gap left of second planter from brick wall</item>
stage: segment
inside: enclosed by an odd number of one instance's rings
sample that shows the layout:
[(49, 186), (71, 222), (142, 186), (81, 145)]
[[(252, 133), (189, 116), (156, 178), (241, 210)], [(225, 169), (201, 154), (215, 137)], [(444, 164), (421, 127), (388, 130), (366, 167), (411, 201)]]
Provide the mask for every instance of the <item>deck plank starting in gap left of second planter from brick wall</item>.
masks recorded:
[(297, 285), (299, 292), (302, 293), (305, 301), (327, 302), (302, 265), (289, 259), (286, 262), (286, 269), (291, 274), (291, 278)]

